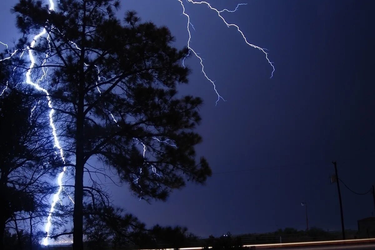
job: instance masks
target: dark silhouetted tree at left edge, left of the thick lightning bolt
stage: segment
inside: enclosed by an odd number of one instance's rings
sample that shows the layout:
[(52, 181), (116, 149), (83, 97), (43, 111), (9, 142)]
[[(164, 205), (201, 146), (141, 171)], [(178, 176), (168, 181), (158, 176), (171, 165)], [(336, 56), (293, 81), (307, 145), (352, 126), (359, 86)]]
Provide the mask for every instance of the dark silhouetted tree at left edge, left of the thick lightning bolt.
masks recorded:
[(18, 235), (19, 225), (26, 224), (23, 229), (29, 231), (31, 244), (31, 237), (41, 235), (36, 225), (45, 219), (49, 195), (57, 189), (46, 178), (56, 174), (59, 161), (52, 138), (45, 133), (46, 110), (38, 99), (14, 90), (9, 78), (6, 81), (0, 96), (0, 234), (3, 237), (5, 228), (10, 228)]

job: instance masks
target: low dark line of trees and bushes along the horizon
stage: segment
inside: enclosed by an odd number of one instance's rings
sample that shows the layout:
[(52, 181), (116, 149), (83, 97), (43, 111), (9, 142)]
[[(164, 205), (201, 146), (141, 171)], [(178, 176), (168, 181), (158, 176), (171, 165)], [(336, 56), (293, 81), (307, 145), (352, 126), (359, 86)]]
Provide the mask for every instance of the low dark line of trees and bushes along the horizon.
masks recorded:
[[(136, 218), (128, 217), (128, 220), (135, 221)], [(92, 228), (93, 229), (93, 228)], [(90, 229), (90, 230), (92, 230)], [(272, 244), (280, 243), (281, 237), (283, 243), (303, 242), (303, 241), (321, 241), (321, 240), (339, 240), (340, 232), (330, 232), (320, 228), (311, 228), (306, 231), (294, 228), (279, 229), (275, 232), (232, 235), (229, 232), (214, 237), (210, 235), (208, 238), (201, 238), (187, 231), (187, 228), (181, 226), (153, 226), (150, 229), (143, 227), (142, 229), (132, 231), (127, 237), (117, 238), (113, 240), (114, 235), (110, 232), (108, 226), (96, 227), (95, 230), (89, 232), (90, 235), (84, 241), (84, 247), (87, 250), (99, 249), (181, 249), (184, 247), (202, 247), (202, 250), (242, 250), (247, 249), (244, 245), (250, 244)], [(356, 231), (348, 230), (350, 238), (355, 238)], [(19, 238), (19, 236), (21, 236)], [(30, 235), (28, 232), (20, 232), (20, 235), (11, 234), (9, 231), (5, 233), (4, 250), (30, 249)], [(39, 242), (33, 241), (33, 249), (42, 249)]]

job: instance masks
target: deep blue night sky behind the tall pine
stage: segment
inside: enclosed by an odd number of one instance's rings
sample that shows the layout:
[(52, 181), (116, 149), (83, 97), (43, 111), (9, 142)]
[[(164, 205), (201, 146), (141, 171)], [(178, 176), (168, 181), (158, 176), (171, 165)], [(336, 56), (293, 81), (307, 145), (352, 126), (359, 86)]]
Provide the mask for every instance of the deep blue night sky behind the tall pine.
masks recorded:
[[(10, 8), (1, 0), (2, 42), (18, 34)], [(210, 1), (234, 9), (233, 0)], [(199, 61), (181, 94), (204, 99), (197, 147), (214, 172), (207, 185), (188, 183), (167, 202), (147, 204), (126, 186), (111, 188), (114, 204), (152, 226), (182, 225), (199, 236), (305, 229), (341, 229), (332, 160), (339, 177), (354, 191), (375, 184), (375, 33), (373, 0), (244, 0), (228, 22), (240, 26), (249, 42), (269, 49), (275, 73), (264, 54), (246, 45), (207, 6), (185, 3), (195, 27), (191, 46), (216, 80), (219, 101), (201, 74)], [(175, 46), (186, 45), (186, 17), (177, 0), (122, 0), (121, 17), (136, 10), (143, 21), (168, 26)], [(371, 194), (355, 195), (341, 184), (345, 227), (375, 216)]]

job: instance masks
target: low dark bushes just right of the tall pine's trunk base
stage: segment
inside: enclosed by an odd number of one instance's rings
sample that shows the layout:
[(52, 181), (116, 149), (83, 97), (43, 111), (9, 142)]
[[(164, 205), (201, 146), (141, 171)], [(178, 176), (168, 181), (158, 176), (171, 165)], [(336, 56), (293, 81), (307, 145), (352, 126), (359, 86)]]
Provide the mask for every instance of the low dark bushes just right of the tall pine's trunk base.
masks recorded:
[(84, 216), (85, 244), (89, 249), (136, 246), (138, 249), (179, 249), (195, 246), (198, 238), (180, 226), (147, 229), (132, 214), (114, 207), (92, 208)]

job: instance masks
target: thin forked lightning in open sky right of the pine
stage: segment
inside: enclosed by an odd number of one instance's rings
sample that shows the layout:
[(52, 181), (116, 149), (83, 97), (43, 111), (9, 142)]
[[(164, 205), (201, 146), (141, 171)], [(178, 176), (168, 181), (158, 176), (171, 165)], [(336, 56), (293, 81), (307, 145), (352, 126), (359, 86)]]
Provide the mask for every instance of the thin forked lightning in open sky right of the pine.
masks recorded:
[[(189, 14), (187, 14), (187, 13), (185, 12), (185, 6), (184, 6), (182, 0), (177, 0), (177, 1), (179, 1), (179, 2), (181, 3), (182, 10), (183, 10), (182, 14), (185, 15), (185, 16), (187, 17), (187, 33), (189, 33), (189, 39), (187, 40), (187, 48), (189, 49), (189, 54), (190, 54), (190, 51), (192, 51), (193, 54), (199, 59), (200, 64), (201, 64), (201, 66), (202, 66), (202, 73), (204, 74), (205, 78), (207, 78), (207, 80), (210, 81), (210, 82), (212, 83), (212, 85), (213, 85), (213, 87), (214, 87), (214, 90), (215, 90), (215, 92), (216, 92), (216, 94), (217, 94), (217, 100), (216, 100), (216, 105), (217, 105), (217, 102), (219, 102), (220, 99), (222, 99), (223, 101), (225, 101), (225, 100), (224, 100), (224, 98), (223, 98), (222, 96), (220, 96), (220, 94), (217, 92), (215, 82), (212, 81), (210, 78), (208, 78), (207, 74), (204, 72), (203, 59), (202, 59), (202, 58), (198, 55), (198, 53), (196, 53), (196, 52), (191, 48), (191, 46), (190, 46), (190, 42), (191, 42), (191, 33), (190, 33), (190, 28), (189, 28), (189, 26), (191, 25), (191, 26), (193, 27), (193, 25), (190, 23), (190, 16), (189, 16)], [(266, 55), (266, 59), (267, 59), (268, 63), (272, 66), (272, 69), (273, 69), (273, 70), (272, 70), (272, 73), (271, 73), (271, 77), (270, 77), (270, 78), (272, 78), (272, 76), (273, 76), (273, 72), (275, 72), (275, 67), (273, 66), (273, 63), (269, 60), (269, 58), (268, 58), (268, 53), (265, 51), (266, 49), (263, 49), (263, 48), (261, 48), (261, 47), (259, 47), (259, 46), (256, 46), (256, 45), (254, 45), (254, 44), (249, 43), (248, 40), (246, 39), (245, 35), (243, 34), (243, 32), (240, 30), (240, 27), (239, 27), (238, 25), (236, 25), (236, 24), (229, 24), (228, 22), (225, 21), (225, 19), (224, 19), (223, 16), (221, 15), (221, 13), (222, 13), (222, 12), (225, 12), (225, 11), (226, 11), (226, 12), (235, 12), (235, 11), (239, 8), (240, 5), (246, 5), (246, 3), (240, 3), (240, 4), (237, 4), (236, 9), (234, 9), (234, 10), (228, 10), (228, 9), (217, 10), (217, 9), (215, 9), (214, 7), (212, 7), (210, 3), (207, 3), (206, 1), (199, 1), (199, 2), (196, 2), (196, 1), (193, 1), (193, 0), (186, 0), (186, 1), (189, 2), (189, 3), (193, 3), (193, 4), (206, 4), (207, 7), (209, 7), (211, 10), (216, 11), (217, 15), (223, 20), (223, 22), (225, 23), (225, 25), (226, 25), (227, 27), (230, 27), (230, 26), (236, 27), (236, 28), (237, 28), (237, 31), (240, 32), (240, 34), (242, 35), (242, 37), (243, 37), (243, 39), (245, 40), (245, 42), (246, 42), (247, 45), (249, 45), (249, 46), (251, 46), (251, 47), (253, 47), (253, 48), (257, 48), (257, 49), (259, 49), (260, 51), (262, 51), (262, 52)], [(194, 28), (194, 27), (193, 27), (193, 28)], [(189, 55), (189, 54), (188, 54), (188, 55)], [(184, 61), (183, 61), (183, 63), (184, 63)]]

